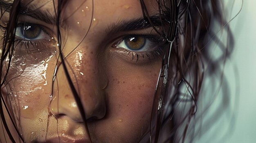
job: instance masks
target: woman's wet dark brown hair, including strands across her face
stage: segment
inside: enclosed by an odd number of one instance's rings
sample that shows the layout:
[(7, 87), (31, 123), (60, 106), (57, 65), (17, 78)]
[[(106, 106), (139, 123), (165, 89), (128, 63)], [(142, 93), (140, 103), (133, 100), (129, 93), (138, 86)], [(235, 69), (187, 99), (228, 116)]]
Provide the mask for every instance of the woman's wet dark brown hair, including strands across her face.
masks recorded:
[[(0, 0), (0, 2), (1, 1), (2, 0)], [(202, 84), (204, 83), (204, 76), (221, 73), (220, 66), (222, 61), (231, 54), (233, 38), (228, 25), (226, 25), (227, 22), (225, 21), (225, 18), (223, 18), (222, 12), (224, 9), (222, 8), (220, 0), (156, 1), (158, 3), (159, 15), (157, 16), (159, 16), (161, 21), (160, 24), (156, 24), (150, 18), (144, 0), (140, 0), (145, 22), (149, 23), (159, 35), (164, 37), (162, 67), (155, 88), (155, 96), (151, 111), (150, 139), (147, 141), (152, 143), (184, 142), (187, 137), (187, 132), (193, 130), (193, 128), (189, 128), (189, 125), (197, 111), (197, 101), (200, 97)], [(13, 50), (15, 49), (15, 31), (21, 4), (20, 0), (14, 0), (11, 3), (10, 9), (3, 9), (2, 5), (0, 5), (1, 15), (6, 11), (10, 12), (9, 22), (6, 25), (1, 25), (1, 30), (4, 32), (0, 60), (1, 87), (8, 84), (6, 79), (11, 66)], [(56, 8), (59, 51), (61, 51), (62, 47), (59, 28), (60, 13), (67, 3), (67, 0), (58, 0)], [(216, 36), (214, 27), (218, 27), (221, 31), (227, 32), (227, 44), (220, 42)], [(222, 49), (223, 55), (219, 58), (211, 58), (211, 42), (216, 42)], [(83, 117), (83, 121), (86, 124), (85, 112), (82, 103), (79, 100), (79, 94), (67, 71), (67, 65), (64, 62), (65, 57), (63, 56), (63, 53), (60, 52), (59, 54), (59, 58), (63, 61), (63, 68), (70, 88)], [(205, 66), (205, 64), (207, 64), (207, 66)], [(6, 68), (6, 71), (4, 71), (3, 68)], [(216, 80), (221, 81), (222, 79)], [(182, 92), (184, 87), (186, 88), (186, 93)], [(2, 107), (3, 103), (4, 107), (7, 109), (7, 105), (3, 98), (4, 97), (1, 94), (0, 106)], [(183, 112), (182, 115), (175, 114), (180, 102), (185, 102), (189, 106), (186, 106), (187, 110), (186, 112)], [(14, 143), (15, 140), (7, 127), (3, 112), (3, 108), (0, 108), (2, 123), (10, 140)], [(16, 122), (11, 118), (11, 114), (13, 113), (8, 110), (7, 112), (20, 136), (20, 140), (24, 142), (18, 129), (19, 125), (16, 125)], [(175, 119), (179, 120), (178, 123), (173, 123)], [(87, 127), (87, 125), (85, 125), (85, 127)], [(166, 128), (170, 132), (165, 132)], [(180, 130), (180, 132), (178, 132), (178, 130)], [(144, 137), (148, 138), (146, 135)]]

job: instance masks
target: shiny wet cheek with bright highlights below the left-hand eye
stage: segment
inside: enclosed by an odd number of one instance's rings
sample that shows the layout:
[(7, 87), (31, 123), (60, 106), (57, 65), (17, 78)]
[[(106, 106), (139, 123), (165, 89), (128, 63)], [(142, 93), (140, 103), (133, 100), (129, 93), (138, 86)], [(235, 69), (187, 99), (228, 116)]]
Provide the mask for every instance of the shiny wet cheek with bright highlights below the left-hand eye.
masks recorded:
[[(8, 73), (8, 98), (14, 111), (25, 119), (37, 117), (38, 111), (47, 107), (51, 96), (52, 75), (56, 58), (35, 64), (32, 57), (26, 62), (14, 56)], [(17, 109), (18, 107), (18, 109)]]

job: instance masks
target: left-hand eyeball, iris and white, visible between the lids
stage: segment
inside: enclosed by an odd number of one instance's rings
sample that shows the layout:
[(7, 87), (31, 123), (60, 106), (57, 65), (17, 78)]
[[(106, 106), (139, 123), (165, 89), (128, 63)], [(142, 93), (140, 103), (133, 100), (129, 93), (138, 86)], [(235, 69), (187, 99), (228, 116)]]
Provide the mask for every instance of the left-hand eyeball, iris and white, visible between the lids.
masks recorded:
[(16, 36), (27, 40), (42, 39), (42, 27), (36, 24), (20, 24), (16, 29)]

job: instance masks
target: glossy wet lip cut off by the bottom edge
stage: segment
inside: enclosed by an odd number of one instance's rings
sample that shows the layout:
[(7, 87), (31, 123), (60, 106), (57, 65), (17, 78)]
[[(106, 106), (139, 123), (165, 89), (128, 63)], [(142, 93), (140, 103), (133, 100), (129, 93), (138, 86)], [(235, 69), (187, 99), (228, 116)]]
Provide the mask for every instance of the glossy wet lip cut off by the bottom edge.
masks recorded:
[(85, 138), (74, 138), (72, 136), (56, 136), (56, 137), (46, 139), (46, 142), (42, 142), (42, 143), (91, 143), (91, 142), (89, 139), (85, 139)]

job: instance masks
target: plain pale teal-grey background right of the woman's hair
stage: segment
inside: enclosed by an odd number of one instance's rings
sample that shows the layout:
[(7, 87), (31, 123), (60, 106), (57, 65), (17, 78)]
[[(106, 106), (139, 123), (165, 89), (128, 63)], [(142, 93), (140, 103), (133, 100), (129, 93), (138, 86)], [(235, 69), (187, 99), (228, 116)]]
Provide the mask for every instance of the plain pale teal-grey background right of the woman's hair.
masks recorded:
[[(241, 6), (242, 0), (225, 0), (229, 20)], [(231, 91), (230, 108), (194, 143), (256, 143), (256, 0), (244, 0), (230, 26), (235, 47), (224, 70)], [(209, 112), (219, 108), (216, 105)]]

